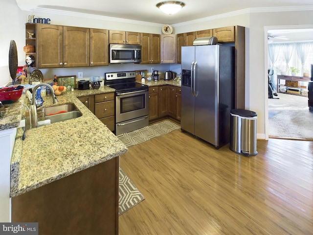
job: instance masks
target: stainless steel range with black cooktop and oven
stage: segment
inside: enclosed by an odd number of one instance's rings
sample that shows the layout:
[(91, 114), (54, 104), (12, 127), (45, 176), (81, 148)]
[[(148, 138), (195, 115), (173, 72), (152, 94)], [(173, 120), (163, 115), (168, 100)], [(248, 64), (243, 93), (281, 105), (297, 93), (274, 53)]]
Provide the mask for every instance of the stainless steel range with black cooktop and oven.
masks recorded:
[(105, 85), (115, 89), (115, 134), (149, 124), (148, 86), (135, 82), (135, 71), (105, 73)]

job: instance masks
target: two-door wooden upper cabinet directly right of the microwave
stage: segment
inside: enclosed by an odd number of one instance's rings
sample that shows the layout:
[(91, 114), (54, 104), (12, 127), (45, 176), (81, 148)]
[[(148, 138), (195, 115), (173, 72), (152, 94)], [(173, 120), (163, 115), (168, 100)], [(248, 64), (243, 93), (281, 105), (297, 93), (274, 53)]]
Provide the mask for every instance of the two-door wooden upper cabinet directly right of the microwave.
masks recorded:
[(160, 35), (152, 33), (140, 33), (141, 44), (141, 63), (140, 64), (159, 64), (160, 55)]

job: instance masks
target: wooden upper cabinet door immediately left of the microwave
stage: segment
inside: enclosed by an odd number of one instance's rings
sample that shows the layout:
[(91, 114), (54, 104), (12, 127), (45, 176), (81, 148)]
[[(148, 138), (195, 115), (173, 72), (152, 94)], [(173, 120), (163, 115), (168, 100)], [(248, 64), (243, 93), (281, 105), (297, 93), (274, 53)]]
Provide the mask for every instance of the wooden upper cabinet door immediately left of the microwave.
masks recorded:
[(90, 66), (109, 65), (109, 30), (90, 28)]

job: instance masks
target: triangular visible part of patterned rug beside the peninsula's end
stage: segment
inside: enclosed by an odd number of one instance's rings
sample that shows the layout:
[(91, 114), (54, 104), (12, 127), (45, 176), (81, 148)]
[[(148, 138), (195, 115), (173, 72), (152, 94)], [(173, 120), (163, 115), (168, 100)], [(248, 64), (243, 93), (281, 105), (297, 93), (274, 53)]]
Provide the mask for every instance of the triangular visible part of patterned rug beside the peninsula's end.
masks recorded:
[(144, 199), (130, 178), (119, 168), (118, 214), (128, 211)]

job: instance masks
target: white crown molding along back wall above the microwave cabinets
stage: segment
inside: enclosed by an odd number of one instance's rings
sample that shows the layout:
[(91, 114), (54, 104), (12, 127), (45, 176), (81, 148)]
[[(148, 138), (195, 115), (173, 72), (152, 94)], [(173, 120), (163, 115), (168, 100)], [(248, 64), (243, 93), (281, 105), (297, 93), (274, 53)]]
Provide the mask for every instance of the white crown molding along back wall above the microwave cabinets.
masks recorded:
[(128, 19), (115, 18), (115, 17), (109, 17), (109, 16), (101, 16), (101, 15), (94, 15), (94, 14), (88, 14), (88, 13), (56, 10), (56, 9), (41, 8), (41, 7), (34, 8), (32, 12), (88, 18), (88, 19), (94, 19), (94, 20), (113, 21), (113, 22), (128, 23), (128, 24), (140, 24), (140, 25), (155, 26), (155, 27), (163, 26), (163, 24), (157, 24), (157, 23), (152, 23), (152, 22), (135, 21), (135, 20), (128, 20)]

